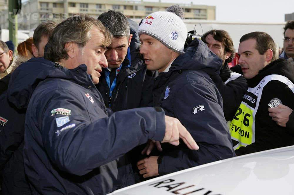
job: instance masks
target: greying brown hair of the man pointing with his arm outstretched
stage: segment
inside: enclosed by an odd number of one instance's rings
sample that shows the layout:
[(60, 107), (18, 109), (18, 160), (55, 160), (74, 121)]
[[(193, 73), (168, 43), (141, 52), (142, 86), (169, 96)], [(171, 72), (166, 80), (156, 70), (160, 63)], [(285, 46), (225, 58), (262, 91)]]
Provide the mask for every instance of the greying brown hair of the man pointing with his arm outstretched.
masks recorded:
[(76, 43), (79, 48), (83, 48), (91, 38), (91, 30), (96, 26), (104, 35), (105, 46), (111, 44), (112, 35), (103, 26), (103, 24), (92, 18), (88, 14), (71, 16), (59, 23), (49, 36), (47, 43), (46, 59), (52, 62), (60, 62), (62, 59), (68, 59), (68, 50), (66, 43)]

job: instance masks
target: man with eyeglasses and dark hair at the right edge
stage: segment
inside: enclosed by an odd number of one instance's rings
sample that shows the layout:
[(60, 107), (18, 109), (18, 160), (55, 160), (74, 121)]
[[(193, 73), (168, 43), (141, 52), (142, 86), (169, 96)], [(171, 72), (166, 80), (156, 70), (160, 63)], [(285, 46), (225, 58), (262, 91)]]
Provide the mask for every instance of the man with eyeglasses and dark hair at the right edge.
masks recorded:
[(294, 57), (294, 21), (288, 21), (284, 27), (284, 51), (280, 58)]

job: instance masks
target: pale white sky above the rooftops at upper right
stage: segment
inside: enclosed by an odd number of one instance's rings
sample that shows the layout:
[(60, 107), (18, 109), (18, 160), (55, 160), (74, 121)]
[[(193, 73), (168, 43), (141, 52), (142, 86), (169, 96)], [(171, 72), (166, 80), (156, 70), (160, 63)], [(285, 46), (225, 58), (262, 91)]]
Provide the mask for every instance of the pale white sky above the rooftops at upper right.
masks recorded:
[[(138, 0), (137, 0), (138, 1)], [(158, 2), (158, 0), (144, 0)], [(161, 0), (174, 4), (216, 6), (217, 21), (284, 22), (294, 12), (293, 0)]]

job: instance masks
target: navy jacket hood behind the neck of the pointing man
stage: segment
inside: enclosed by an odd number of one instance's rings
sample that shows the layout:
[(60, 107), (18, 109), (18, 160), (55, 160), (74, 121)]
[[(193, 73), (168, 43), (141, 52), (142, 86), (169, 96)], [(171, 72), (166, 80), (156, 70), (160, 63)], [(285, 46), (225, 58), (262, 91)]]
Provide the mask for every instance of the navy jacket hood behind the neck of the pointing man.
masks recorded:
[[(79, 71), (77, 71), (79, 69)], [(43, 57), (34, 57), (17, 67), (9, 82), (7, 98), (17, 108), (27, 108), (29, 100), (37, 85), (44, 79), (62, 78), (71, 79), (81, 85), (89, 84), (86, 74), (86, 65), (80, 65), (69, 70), (58, 63), (45, 60)], [(85, 74), (78, 74), (84, 71)]]

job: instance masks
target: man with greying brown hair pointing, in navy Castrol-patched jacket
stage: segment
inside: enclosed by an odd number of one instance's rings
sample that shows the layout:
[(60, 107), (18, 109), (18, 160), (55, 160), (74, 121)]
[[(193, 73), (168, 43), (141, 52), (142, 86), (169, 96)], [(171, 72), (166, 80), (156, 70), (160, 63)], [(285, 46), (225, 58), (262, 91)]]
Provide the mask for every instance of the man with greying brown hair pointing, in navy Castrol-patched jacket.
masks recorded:
[[(27, 108), (24, 166), (32, 194), (107, 194), (133, 184), (124, 154), (148, 139), (177, 145), (183, 137), (198, 149), (161, 108), (109, 116), (94, 84), (107, 67), (104, 52), (111, 40), (100, 21), (86, 14), (69, 17), (49, 37), (46, 60), (32, 58), (12, 74), (7, 97), (18, 109)], [(7, 126), (16, 122), (1, 117)]]

